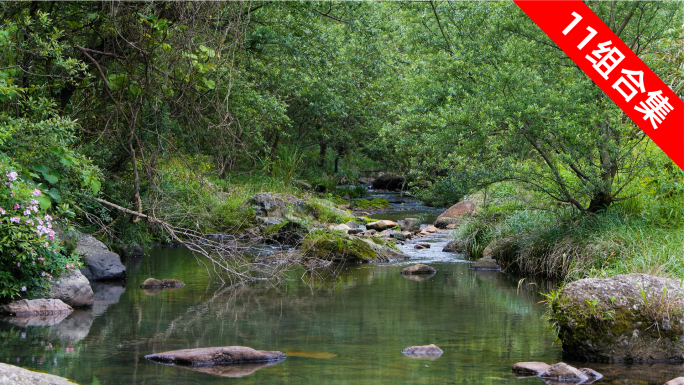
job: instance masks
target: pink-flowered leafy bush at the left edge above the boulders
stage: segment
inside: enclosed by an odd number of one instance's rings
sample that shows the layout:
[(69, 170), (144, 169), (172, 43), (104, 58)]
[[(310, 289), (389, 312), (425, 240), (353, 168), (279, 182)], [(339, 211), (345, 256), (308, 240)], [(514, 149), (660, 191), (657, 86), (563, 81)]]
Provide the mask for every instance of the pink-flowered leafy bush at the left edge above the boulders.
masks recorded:
[(44, 192), (5, 164), (0, 180), (0, 302), (33, 298), (49, 290), (53, 276), (80, 264), (58, 243)]

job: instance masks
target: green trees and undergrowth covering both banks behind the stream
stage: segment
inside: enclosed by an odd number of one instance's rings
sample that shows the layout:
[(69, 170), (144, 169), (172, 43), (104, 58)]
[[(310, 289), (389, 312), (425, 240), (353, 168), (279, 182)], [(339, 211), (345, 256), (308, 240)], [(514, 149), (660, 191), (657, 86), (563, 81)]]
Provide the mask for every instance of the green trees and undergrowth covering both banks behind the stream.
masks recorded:
[[(682, 94), (682, 3), (589, 5)], [(555, 262), (523, 271), (681, 250), (681, 170), (509, 2), (4, 2), (0, 152), (44, 214), (111, 243), (240, 231), (255, 192), (363, 198), (335, 187), (383, 170), (435, 205), (533, 196), (473, 248), (529, 234), (511, 255)]]

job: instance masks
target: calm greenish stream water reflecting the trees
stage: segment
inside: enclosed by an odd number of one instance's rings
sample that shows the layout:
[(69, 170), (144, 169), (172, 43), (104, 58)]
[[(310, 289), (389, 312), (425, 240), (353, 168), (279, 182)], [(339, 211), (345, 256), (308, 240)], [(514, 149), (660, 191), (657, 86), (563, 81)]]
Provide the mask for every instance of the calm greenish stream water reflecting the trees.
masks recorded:
[[(393, 198), (393, 197), (390, 197)], [(393, 198), (374, 217), (401, 219), (438, 213)], [(342, 267), (335, 278), (295, 272), (273, 286), (222, 287), (184, 249), (153, 249), (126, 261), (125, 284), (93, 285), (93, 309), (77, 310), (53, 325), (0, 320), (0, 360), (67, 377), (80, 384), (543, 384), (517, 379), (519, 361), (561, 361), (544, 321), (540, 290), (548, 284), (499, 272), (472, 272), (462, 256), (441, 252), (449, 234), (400, 246), (412, 259)], [(410, 279), (400, 271), (416, 262), (437, 273)], [(146, 292), (148, 277), (186, 286)], [(402, 349), (434, 343), (435, 359), (403, 356)], [(283, 362), (196, 371), (148, 361), (174, 349), (243, 345), (280, 350)], [(577, 364), (577, 365), (582, 365)], [(582, 365), (584, 366), (584, 365)], [(681, 366), (589, 365), (606, 378), (597, 384), (662, 384)]]

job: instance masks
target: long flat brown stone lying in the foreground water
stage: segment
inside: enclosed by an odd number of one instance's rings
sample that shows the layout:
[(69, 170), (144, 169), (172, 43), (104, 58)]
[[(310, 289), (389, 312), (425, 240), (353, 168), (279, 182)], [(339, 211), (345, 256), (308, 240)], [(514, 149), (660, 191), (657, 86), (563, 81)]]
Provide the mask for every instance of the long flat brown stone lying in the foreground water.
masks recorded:
[(173, 350), (149, 354), (145, 358), (164, 364), (197, 367), (278, 362), (285, 359), (285, 354), (279, 351), (254, 350), (246, 346), (223, 346)]

